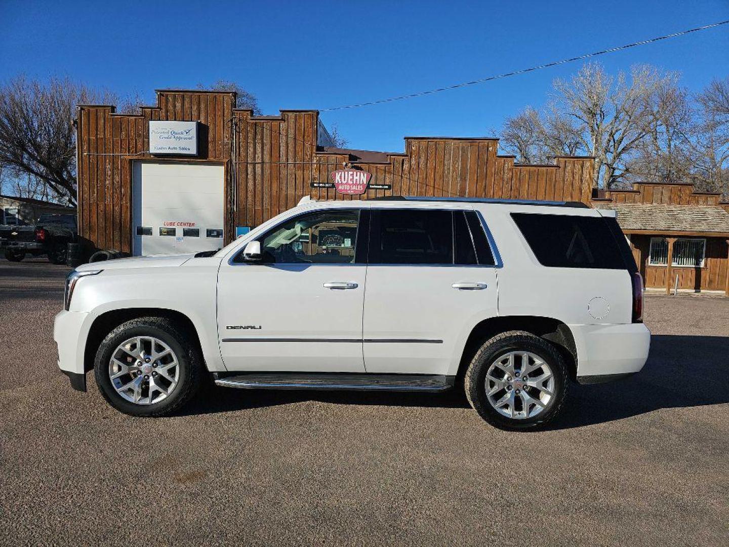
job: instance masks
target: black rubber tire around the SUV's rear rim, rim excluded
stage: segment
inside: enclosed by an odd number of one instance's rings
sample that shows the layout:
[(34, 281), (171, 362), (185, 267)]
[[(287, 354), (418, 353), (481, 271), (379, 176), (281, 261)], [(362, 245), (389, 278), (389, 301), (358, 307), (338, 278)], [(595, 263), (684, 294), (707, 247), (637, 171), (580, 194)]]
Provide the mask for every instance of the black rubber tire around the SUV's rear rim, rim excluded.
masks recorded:
[[(504, 416), (489, 403), (486, 395), (486, 373), (488, 373), (488, 369), (499, 357), (512, 351), (536, 354), (552, 369), (554, 377), (553, 396), (542, 411), (528, 418), (520, 419)], [(544, 427), (561, 410), (569, 384), (568, 378), (567, 365), (555, 346), (543, 338), (526, 333), (523, 330), (510, 330), (490, 338), (476, 352), (464, 378), (464, 389), (471, 406), (486, 422), (494, 427), (508, 431), (534, 430)], [(513, 387), (509, 387), (509, 389), (513, 389)], [(534, 388), (528, 387), (526, 389), (532, 390)], [(532, 391), (529, 395), (532, 393), (534, 392)], [(494, 395), (494, 398), (496, 398), (496, 395)], [(532, 411), (536, 409), (537, 407), (534, 406)]]

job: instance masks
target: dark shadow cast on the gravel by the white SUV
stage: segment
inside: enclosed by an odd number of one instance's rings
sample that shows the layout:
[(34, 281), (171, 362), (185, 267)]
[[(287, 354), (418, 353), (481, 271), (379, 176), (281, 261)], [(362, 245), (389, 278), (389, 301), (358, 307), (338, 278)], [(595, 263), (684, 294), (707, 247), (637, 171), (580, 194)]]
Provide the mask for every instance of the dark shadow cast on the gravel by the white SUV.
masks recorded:
[[(729, 403), (729, 338), (653, 335), (648, 362), (631, 378), (609, 384), (571, 384), (564, 411), (548, 429), (612, 422), (660, 408)], [(234, 389), (210, 385), (183, 415), (287, 405), (307, 400), (343, 405), (469, 408), (459, 389), (446, 393), (313, 392)]]

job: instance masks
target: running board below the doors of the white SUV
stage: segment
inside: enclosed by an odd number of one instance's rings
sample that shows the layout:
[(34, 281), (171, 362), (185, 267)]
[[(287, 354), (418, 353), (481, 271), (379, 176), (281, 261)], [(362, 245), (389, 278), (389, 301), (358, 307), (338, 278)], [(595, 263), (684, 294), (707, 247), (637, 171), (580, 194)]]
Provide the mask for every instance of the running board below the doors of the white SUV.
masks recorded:
[(424, 391), (451, 389), (455, 376), (430, 374), (245, 373), (214, 376), (215, 384), (241, 389), (354, 389), (357, 391)]

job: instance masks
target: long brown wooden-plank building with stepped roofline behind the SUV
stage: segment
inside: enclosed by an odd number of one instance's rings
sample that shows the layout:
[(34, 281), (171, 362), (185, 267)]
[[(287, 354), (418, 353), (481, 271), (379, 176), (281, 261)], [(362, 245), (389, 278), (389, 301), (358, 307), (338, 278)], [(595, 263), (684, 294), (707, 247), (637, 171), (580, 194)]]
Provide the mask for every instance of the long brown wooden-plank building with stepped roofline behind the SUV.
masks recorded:
[[(133, 255), (216, 248), (305, 195), (352, 199), (326, 187), (332, 173), (343, 167), (371, 174), (368, 190), (354, 196), (364, 199), (458, 195), (602, 207), (669, 203), (663, 200), (675, 193), (687, 206), (705, 202), (720, 207), (716, 195), (684, 187), (666, 190), (667, 197), (658, 190), (661, 185), (596, 195), (593, 158), (519, 165), (513, 156), (498, 154), (498, 139), (412, 136), (405, 137), (404, 152), (335, 148), (316, 110), (254, 116), (251, 110), (236, 109), (235, 100), (235, 93), (157, 90), (157, 105), (142, 106), (139, 115), (117, 114), (114, 106), (79, 106), (81, 236), (99, 249)], [(717, 234), (711, 237), (723, 237)], [(636, 252), (644, 252), (642, 236), (646, 234), (636, 234)], [(718, 287), (727, 269), (726, 242), (722, 247), (712, 239), (706, 248), (724, 252), (723, 265), (716, 266), (715, 274), (712, 265), (709, 276), (710, 286)], [(648, 255), (638, 255), (639, 260)], [(668, 286), (672, 267), (663, 277), (650, 268), (642, 267), (644, 278)], [(701, 276), (701, 287), (706, 287), (705, 279)], [(690, 284), (688, 278), (685, 284)]]

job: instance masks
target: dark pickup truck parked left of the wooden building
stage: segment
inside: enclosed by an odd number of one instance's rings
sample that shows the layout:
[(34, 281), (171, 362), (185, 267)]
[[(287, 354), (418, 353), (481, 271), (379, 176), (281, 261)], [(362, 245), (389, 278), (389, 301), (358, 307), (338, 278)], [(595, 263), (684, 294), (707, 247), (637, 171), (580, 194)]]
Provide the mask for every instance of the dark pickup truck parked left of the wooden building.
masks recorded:
[(76, 243), (75, 214), (42, 214), (33, 226), (0, 226), (0, 244), (5, 257), (20, 262), (26, 255), (47, 255), (49, 262), (66, 262), (69, 243)]

